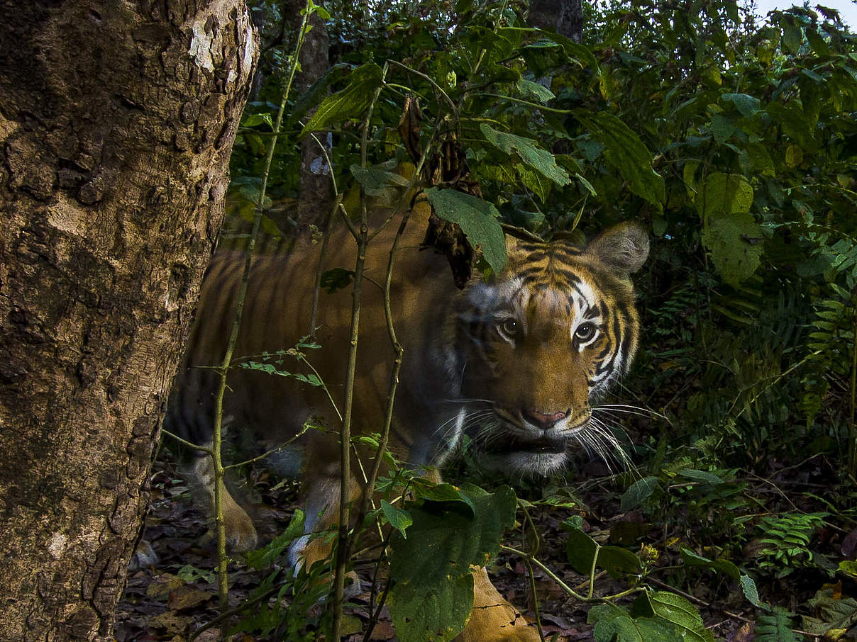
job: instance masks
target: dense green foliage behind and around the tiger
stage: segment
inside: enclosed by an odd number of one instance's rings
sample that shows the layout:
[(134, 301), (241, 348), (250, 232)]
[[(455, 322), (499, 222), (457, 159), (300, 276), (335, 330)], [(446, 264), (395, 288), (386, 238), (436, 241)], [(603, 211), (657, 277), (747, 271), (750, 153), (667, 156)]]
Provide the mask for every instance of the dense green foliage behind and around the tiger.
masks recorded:
[[(269, 38), (284, 17), (277, 7), (256, 8)], [(788, 612), (768, 603), (799, 604), (759, 597), (752, 578), (815, 573), (812, 595), (838, 562), (813, 552), (818, 533), (852, 531), (857, 519), (857, 39), (823, 7), (760, 21), (734, 0), (590, 6), (582, 44), (528, 27), (520, 2), (326, 9), (334, 64), (289, 105), (272, 203), (299, 197), (299, 140), (327, 132), (346, 208), (357, 211), (361, 194), (393, 199), (402, 182), (393, 169), (417, 160), (397, 131), (405, 98), (415, 96), (423, 160), (452, 141), (464, 150), (467, 181), (480, 187), (481, 199), (465, 198), (456, 181), (435, 180), (432, 204), (441, 217), (463, 217), (482, 244), (483, 269), (503, 260), (500, 221), (543, 238), (629, 218), (649, 226), (653, 255), (638, 280), (644, 348), (620, 396), (650, 417), (631, 418), (642, 479), (623, 477), (615, 508), (657, 525), (685, 521), (679, 544), (653, 545), (680, 550), (685, 569), (740, 584), (761, 609), (757, 639), (795, 639)], [(259, 198), (289, 47), (267, 48), (266, 82), (244, 119), (233, 158), (238, 210)], [(267, 231), (287, 228), (288, 208), (279, 219), (266, 213)], [(764, 507), (752, 480), (806, 462), (823, 471), (824, 490), (788, 490)], [(481, 497), (460, 493), (444, 497), (443, 509)], [(577, 543), (569, 562), (584, 574), (597, 557), (637, 586), (656, 567), (645, 547), (638, 556), (596, 544), (580, 521), (568, 520), (566, 532)], [(742, 557), (753, 542), (757, 554)], [(395, 558), (394, 549), (394, 577)], [(838, 579), (854, 588), (855, 571), (846, 559)], [(824, 633), (834, 600), (824, 591), (813, 599), (800, 605), (812, 615), (802, 627)], [(595, 637), (710, 639), (682, 600), (647, 591), (630, 609), (596, 606)]]

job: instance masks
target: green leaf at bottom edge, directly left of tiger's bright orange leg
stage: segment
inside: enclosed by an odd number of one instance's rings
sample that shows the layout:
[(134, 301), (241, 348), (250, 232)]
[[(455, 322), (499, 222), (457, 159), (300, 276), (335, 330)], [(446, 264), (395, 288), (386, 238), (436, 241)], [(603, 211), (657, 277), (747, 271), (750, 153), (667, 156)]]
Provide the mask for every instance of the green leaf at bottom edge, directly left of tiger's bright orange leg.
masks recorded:
[(461, 633), (471, 609), (470, 573), (428, 588), (418, 579), (399, 581), (390, 590), (390, 615), (401, 642), (446, 642)]

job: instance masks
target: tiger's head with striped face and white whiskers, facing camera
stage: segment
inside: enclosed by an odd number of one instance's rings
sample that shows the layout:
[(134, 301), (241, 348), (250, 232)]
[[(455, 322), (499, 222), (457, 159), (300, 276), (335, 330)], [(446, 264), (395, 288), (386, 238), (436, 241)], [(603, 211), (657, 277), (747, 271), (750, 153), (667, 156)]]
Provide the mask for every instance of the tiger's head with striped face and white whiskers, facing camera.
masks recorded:
[(649, 253), (636, 223), (620, 223), (584, 249), (508, 238), (506, 268), (474, 279), (454, 309), (450, 373), (467, 413), (460, 428), (489, 467), (543, 475), (566, 466), (572, 442), (603, 453), (609, 436), (591, 402), (637, 350), (630, 275)]

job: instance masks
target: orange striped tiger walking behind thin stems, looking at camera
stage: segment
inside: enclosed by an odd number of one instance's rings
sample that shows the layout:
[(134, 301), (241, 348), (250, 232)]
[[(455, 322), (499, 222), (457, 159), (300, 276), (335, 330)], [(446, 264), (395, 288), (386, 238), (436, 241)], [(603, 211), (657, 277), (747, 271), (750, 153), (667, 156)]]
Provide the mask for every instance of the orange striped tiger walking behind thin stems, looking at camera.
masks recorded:
[[(592, 436), (593, 400), (627, 372), (637, 351), (639, 317), (631, 274), (649, 253), (644, 228), (620, 223), (585, 247), (506, 235), (506, 266), (488, 278), (477, 272), (458, 289), (446, 257), (421, 248), (430, 216), (427, 202), (414, 205), (394, 256), (389, 302), (404, 357), (390, 451), (409, 467), (435, 472), (464, 441), (488, 467), (512, 475), (544, 476), (569, 467), (572, 444)], [(378, 433), (385, 423), (395, 353), (382, 284), (398, 229), (387, 225), (366, 253), (353, 388), (356, 434)], [(339, 288), (316, 298), (315, 281), (321, 272), (351, 269), (357, 244), (344, 225), (329, 235), (330, 249), (323, 256), (320, 245), (308, 243), (288, 255), (257, 257), (250, 270), (237, 358), (270, 354), (307, 335), (322, 347), (308, 355), (315, 361), (309, 366), (284, 367), (305, 377), (315, 374), (324, 388), (247, 368), (229, 373), (224, 417), (270, 443), (295, 437), (309, 417), (339, 425), (333, 405), (341, 408), (345, 399), (352, 294), (351, 288)], [(241, 256), (215, 254), (201, 287), (166, 422), (191, 443), (211, 443), (218, 377), (205, 366), (223, 358), (242, 272)], [(311, 564), (327, 550), (313, 550), (309, 535), (333, 526), (339, 512), (339, 444), (321, 431), (309, 431), (298, 443), (307, 517), (293, 562)], [(185, 466), (209, 508), (214, 493), (210, 462), (206, 455), (195, 455)], [(352, 499), (363, 495), (357, 479), (349, 488)], [(254, 548), (252, 520), (223, 490), (231, 549)], [(484, 569), (474, 573), (474, 609), (460, 639), (539, 639), (500, 597)]]

